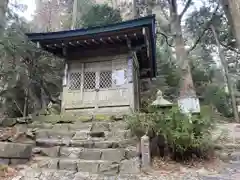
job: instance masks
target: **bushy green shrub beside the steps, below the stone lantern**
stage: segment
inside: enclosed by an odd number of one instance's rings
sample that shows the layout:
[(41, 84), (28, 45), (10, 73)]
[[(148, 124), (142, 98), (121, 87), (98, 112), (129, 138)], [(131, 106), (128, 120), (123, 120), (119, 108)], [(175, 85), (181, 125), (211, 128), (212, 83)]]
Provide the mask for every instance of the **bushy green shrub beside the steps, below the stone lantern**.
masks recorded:
[(150, 139), (163, 136), (169, 153), (175, 160), (190, 158), (193, 154), (207, 157), (212, 149), (210, 132), (214, 122), (204, 111), (189, 117), (175, 107), (164, 113), (156, 111), (128, 116), (127, 123), (138, 138), (145, 133)]

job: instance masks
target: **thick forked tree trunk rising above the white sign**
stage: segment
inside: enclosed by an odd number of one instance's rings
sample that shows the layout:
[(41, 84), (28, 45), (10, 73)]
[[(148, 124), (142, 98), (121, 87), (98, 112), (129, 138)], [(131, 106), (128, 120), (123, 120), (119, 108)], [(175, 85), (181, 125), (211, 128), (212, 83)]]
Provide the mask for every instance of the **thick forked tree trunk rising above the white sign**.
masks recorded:
[[(161, 17), (161, 19), (167, 19), (168, 24), (165, 27), (160, 27), (161, 29), (168, 30), (174, 41), (174, 48), (176, 53), (176, 59), (178, 66), (181, 71), (180, 79), (180, 93), (179, 99), (184, 98), (194, 98), (196, 99), (196, 92), (192, 80), (191, 68), (189, 64), (188, 51), (185, 48), (185, 41), (183, 37), (182, 19), (184, 14), (187, 12), (189, 7), (192, 5), (192, 0), (184, 1), (185, 5), (182, 12), (179, 13), (179, 4), (182, 3), (181, 0), (170, 0), (170, 1), (159, 1), (160, 10), (163, 11), (161, 14), (167, 16), (166, 12), (169, 12), (168, 17)], [(161, 22), (159, 23), (161, 26)], [(161, 32), (167, 40), (167, 34)]]

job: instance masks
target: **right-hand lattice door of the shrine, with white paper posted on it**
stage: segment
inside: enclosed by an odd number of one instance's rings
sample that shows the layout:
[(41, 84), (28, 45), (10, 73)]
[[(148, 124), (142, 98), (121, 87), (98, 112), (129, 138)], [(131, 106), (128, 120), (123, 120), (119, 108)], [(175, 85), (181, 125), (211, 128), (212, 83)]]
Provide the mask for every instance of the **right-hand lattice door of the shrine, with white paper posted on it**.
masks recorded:
[(129, 105), (127, 60), (115, 59), (99, 68), (98, 107)]

